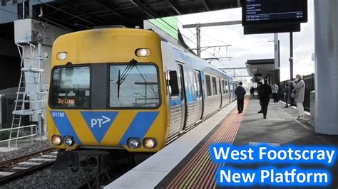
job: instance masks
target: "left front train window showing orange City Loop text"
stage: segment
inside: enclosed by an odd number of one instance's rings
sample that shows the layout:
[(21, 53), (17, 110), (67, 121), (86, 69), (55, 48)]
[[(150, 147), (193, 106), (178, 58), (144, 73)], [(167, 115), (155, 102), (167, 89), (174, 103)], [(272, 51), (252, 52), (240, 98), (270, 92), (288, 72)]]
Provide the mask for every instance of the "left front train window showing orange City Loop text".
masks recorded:
[(89, 66), (56, 68), (52, 73), (51, 107), (89, 108), (91, 102)]

